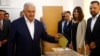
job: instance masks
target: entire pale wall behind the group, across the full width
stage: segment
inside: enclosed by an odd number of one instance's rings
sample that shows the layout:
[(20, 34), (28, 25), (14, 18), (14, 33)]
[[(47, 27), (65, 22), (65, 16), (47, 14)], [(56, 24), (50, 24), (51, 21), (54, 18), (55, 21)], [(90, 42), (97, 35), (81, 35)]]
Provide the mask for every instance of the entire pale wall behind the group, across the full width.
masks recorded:
[[(0, 9), (5, 9), (10, 13), (10, 19), (14, 20), (19, 17), (20, 11), (23, 9), (23, 5), (26, 2), (32, 2), (36, 5), (36, 18), (39, 19), (42, 16), (42, 6), (63, 6), (63, 10), (73, 11), (74, 7), (81, 6), (85, 19), (90, 16), (89, 4), (92, 0), (10, 0), (9, 6), (0, 6)], [(98, 0), (100, 1), (100, 0)]]

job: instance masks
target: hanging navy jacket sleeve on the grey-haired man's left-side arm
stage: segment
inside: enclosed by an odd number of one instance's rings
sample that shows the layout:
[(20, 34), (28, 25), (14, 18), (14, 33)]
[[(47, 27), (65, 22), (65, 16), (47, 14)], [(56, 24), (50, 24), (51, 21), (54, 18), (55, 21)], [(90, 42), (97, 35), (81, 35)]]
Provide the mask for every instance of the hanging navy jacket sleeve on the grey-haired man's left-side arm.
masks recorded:
[(8, 37), (8, 56), (14, 56), (15, 35), (16, 35), (16, 29), (14, 24), (11, 24), (10, 30), (11, 31)]

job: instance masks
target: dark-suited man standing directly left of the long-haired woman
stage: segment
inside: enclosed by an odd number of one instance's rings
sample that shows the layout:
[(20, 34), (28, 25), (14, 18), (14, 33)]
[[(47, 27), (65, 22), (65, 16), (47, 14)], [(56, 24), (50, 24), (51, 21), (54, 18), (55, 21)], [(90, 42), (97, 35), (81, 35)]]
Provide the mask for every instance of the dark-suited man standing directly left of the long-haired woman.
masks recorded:
[(70, 40), (71, 40), (71, 25), (72, 25), (72, 21), (71, 21), (71, 12), (70, 11), (65, 11), (64, 13), (64, 24), (62, 25), (62, 30), (63, 30), (63, 35), (66, 37), (66, 39), (68, 39), (68, 44), (67, 47), (70, 44)]

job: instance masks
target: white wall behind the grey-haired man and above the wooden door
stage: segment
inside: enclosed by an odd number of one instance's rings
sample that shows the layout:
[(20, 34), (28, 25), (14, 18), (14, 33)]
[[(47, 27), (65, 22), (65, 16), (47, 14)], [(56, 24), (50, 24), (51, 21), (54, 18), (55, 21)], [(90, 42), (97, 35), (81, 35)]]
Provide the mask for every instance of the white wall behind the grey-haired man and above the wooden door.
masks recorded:
[(42, 6), (63, 6), (63, 10), (70, 10), (73, 8), (73, 0), (10, 0), (9, 6), (0, 6), (10, 13), (10, 19), (14, 20), (19, 17), (20, 11), (26, 2), (32, 2), (36, 5), (36, 18), (42, 16)]

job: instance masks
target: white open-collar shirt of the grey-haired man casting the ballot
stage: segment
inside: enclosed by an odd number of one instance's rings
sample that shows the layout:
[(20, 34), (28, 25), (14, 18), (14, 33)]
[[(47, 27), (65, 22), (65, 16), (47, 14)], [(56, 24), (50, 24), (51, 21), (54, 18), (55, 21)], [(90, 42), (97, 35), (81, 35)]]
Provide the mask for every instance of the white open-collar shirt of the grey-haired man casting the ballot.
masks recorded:
[(25, 16), (24, 16), (24, 18), (25, 18), (28, 30), (30, 32), (30, 35), (31, 35), (32, 39), (34, 39), (34, 20), (32, 22), (30, 22)]

